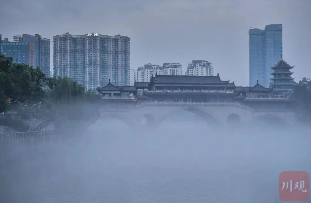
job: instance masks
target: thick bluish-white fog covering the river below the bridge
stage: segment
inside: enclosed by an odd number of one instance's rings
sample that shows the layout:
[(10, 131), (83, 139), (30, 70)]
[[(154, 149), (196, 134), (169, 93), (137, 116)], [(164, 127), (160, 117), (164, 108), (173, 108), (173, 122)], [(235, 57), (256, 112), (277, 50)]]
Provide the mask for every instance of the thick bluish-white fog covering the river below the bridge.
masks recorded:
[(117, 119), (1, 146), (0, 202), (281, 202), (310, 170), (307, 126), (209, 126), (190, 112), (138, 133)]

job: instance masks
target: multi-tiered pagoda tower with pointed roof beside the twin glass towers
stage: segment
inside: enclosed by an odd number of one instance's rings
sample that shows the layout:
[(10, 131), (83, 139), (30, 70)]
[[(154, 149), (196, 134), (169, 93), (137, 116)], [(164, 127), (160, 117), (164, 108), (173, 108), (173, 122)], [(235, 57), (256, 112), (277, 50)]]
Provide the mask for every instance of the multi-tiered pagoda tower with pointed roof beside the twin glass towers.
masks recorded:
[(294, 78), (291, 77), (293, 72), (290, 72), (292, 68), (294, 68), (294, 66), (290, 66), (283, 59), (271, 68), (273, 70), (273, 73), (271, 73), (271, 88), (273, 88), (274, 91), (282, 93), (292, 92), (295, 86)]

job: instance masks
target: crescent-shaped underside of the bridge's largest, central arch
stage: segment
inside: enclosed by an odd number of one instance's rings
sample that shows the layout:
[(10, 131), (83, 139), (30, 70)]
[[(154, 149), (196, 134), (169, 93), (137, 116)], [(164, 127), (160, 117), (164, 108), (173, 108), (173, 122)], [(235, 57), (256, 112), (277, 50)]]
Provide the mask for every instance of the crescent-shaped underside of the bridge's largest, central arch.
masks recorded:
[(198, 117), (201, 117), (208, 126), (218, 126), (220, 124), (218, 118), (216, 116), (214, 116), (213, 114), (201, 109), (201, 108), (194, 108), (194, 107), (183, 107), (183, 108), (177, 108), (174, 109), (173, 111), (170, 111), (169, 113), (165, 114), (164, 116), (162, 116), (159, 120), (159, 122), (157, 123), (156, 129), (159, 128), (159, 126), (161, 125), (161, 123), (169, 116), (173, 115), (174, 113), (177, 113), (179, 111), (188, 111), (191, 112), (195, 115), (197, 115)]

